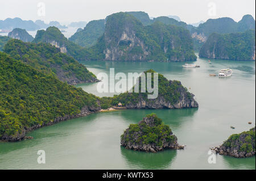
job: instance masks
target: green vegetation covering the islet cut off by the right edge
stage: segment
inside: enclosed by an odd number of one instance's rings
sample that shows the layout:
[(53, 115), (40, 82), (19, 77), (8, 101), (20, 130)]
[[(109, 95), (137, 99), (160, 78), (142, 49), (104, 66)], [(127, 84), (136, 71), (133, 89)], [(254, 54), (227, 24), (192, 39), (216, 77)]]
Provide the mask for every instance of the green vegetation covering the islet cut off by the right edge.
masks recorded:
[(228, 149), (238, 147), (238, 151), (245, 151), (246, 153), (254, 151), (255, 153), (255, 127), (240, 134), (232, 134), (222, 146), (226, 146)]

